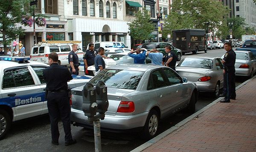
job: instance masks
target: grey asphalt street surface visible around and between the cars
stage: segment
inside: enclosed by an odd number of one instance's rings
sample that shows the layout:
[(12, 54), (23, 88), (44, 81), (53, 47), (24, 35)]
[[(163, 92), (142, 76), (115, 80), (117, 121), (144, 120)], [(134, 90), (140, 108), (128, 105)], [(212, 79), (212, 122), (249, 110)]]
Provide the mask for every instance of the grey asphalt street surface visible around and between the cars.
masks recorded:
[[(224, 49), (210, 50), (207, 53), (199, 52), (197, 55), (188, 53), (183, 56), (222, 56), (224, 54)], [(238, 79), (236, 85), (241, 84), (246, 79)], [(199, 100), (196, 104), (196, 111), (205, 107), (207, 104), (214, 101), (208, 93), (200, 93)], [(182, 121), (184, 118), (188, 117), (187, 113), (177, 113), (164, 120), (160, 121), (159, 134), (166, 129), (174, 126), (178, 122)], [(29, 118), (26, 120), (18, 121), (13, 124), (10, 133), (5, 139), (0, 141), (0, 152), (70, 152), (70, 151), (86, 151), (94, 152), (94, 138), (93, 130), (87, 130), (81, 127), (72, 126), (73, 138), (75, 138), (78, 143), (71, 146), (64, 146), (64, 132), (61, 123), (59, 123), (59, 128), (61, 129), (60, 145), (53, 146), (51, 144), (51, 134), (50, 134), (50, 124), (48, 115)], [(102, 132), (102, 152), (129, 152), (132, 149), (145, 143), (145, 140), (139, 138), (139, 135), (135, 133), (129, 134), (117, 134)]]

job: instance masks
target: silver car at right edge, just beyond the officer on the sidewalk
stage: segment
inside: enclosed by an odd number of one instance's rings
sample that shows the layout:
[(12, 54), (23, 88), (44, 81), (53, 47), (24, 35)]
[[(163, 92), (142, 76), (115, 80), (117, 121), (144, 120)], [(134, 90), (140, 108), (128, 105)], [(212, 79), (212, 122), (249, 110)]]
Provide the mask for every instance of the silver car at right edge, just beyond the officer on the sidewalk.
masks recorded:
[[(236, 76), (253, 77), (256, 72), (256, 57), (250, 51), (235, 51), (236, 53)], [(224, 58), (224, 55), (221, 57)]]

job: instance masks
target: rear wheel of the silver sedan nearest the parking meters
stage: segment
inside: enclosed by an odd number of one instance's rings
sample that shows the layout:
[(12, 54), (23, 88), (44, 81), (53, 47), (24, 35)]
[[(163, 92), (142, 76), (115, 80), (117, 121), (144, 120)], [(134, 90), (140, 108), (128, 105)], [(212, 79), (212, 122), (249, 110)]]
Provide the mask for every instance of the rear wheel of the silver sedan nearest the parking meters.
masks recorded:
[(154, 138), (157, 134), (157, 129), (159, 125), (159, 116), (156, 110), (151, 110), (148, 114), (145, 126), (143, 128), (142, 138), (151, 139)]

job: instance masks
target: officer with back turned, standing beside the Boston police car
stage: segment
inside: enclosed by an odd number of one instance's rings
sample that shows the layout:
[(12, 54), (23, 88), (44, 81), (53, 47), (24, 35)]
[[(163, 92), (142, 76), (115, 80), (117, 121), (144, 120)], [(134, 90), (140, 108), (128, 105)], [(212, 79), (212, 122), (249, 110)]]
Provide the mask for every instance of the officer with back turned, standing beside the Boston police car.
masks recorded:
[(58, 131), (58, 118), (61, 118), (65, 132), (65, 146), (75, 144), (70, 129), (70, 103), (67, 82), (72, 78), (68, 68), (58, 64), (58, 54), (50, 53), (48, 56), (50, 67), (45, 68), (43, 76), (46, 81), (46, 99), (51, 122), (52, 144), (58, 145), (60, 136)]

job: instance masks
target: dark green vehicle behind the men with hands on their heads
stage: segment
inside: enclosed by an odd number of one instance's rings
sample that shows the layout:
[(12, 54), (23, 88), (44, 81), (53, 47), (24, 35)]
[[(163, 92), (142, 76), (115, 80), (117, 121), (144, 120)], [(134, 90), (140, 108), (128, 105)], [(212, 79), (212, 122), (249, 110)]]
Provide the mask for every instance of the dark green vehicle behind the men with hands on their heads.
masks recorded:
[[(178, 48), (175, 48), (173, 45), (171, 45), (170, 43), (166, 43), (166, 42), (150, 42), (150, 43), (144, 43), (142, 45), (141, 48), (145, 48), (147, 49), (148, 51), (150, 51), (151, 49), (153, 48), (156, 48), (157, 50), (159, 50), (160, 52), (163, 53), (163, 55), (166, 54), (165, 52), (165, 47), (169, 45), (171, 46), (172, 48), (172, 51), (174, 51), (177, 55), (177, 61), (180, 61), (181, 59), (181, 56), (182, 56), (182, 53), (181, 53), (181, 50), (178, 49)], [(147, 62), (148, 63), (148, 62)]]

